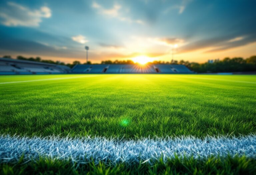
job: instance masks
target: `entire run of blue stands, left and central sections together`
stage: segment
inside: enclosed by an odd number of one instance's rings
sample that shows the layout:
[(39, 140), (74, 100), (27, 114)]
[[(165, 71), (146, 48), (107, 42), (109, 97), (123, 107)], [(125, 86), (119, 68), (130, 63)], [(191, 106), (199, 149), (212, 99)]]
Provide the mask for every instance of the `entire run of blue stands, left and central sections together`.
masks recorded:
[(193, 73), (184, 65), (176, 64), (77, 64), (67, 66), (0, 58), (0, 75), (15, 74), (65, 74), (65, 73)]

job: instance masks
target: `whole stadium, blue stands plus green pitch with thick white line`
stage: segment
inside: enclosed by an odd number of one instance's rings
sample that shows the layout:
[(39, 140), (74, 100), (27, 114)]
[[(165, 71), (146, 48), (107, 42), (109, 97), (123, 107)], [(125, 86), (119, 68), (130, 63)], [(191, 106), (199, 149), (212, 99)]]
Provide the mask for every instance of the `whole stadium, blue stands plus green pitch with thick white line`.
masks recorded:
[(171, 64), (0, 65), (3, 171), (255, 170), (255, 75)]

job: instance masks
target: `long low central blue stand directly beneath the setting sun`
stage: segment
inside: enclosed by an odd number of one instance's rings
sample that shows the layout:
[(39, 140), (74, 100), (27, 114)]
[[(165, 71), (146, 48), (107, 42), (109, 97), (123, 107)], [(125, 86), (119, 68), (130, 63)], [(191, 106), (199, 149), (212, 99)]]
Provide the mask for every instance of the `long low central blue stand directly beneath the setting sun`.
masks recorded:
[(71, 73), (193, 73), (184, 65), (176, 64), (79, 64)]

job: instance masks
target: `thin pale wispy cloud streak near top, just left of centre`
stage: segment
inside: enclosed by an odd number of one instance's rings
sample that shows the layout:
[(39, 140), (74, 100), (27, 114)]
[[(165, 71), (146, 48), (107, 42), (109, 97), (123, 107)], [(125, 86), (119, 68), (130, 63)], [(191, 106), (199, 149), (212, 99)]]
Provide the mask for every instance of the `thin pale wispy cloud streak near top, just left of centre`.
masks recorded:
[(110, 16), (112, 18), (117, 18), (120, 21), (144, 24), (144, 22), (142, 20), (139, 20), (139, 19), (134, 20), (129, 17), (125, 17), (125, 16), (121, 15), (120, 10), (122, 9), (122, 6), (118, 5), (118, 4), (113, 5), (113, 7), (111, 9), (106, 9), (106, 8), (102, 7), (100, 4), (93, 2), (92, 7), (94, 9), (97, 9), (99, 13)]

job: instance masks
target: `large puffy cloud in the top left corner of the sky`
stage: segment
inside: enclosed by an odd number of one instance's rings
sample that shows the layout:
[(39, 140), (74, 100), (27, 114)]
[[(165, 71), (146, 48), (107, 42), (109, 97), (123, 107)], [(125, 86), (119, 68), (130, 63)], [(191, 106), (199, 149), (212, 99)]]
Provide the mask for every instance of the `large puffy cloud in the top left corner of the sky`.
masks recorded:
[(51, 9), (46, 6), (31, 10), (14, 2), (0, 7), (0, 22), (6, 26), (39, 26), (42, 18), (50, 18)]

